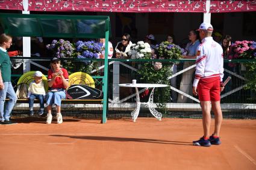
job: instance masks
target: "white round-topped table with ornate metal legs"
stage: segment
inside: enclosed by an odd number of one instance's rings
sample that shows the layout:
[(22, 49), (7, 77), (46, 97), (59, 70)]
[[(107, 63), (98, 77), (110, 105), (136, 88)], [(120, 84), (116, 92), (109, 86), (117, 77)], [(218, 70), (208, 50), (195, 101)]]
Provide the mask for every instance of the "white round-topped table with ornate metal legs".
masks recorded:
[[(161, 120), (162, 114), (155, 110), (154, 108), (154, 90), (156, 87), (167, 87), (168, 85), (164, 84), (150, 84), (150, 83), (124, 83), (124, 84), (119, 84), (119, 87), (134, 87), (136, 89), (136, 103), (137, 107), (136, 109), (131, 112), (131, 116), (133, 117), (133, 121), (135, 122), (137, 120), (137, 117), (140, 112), (140, 105), (148, 105), (149, 111), (151, 112), (152, 115), (154, 115), (155, 118), (158, 120)], [(149, 96), (148, 102), (140, 102), (140, 94), (138, 88), (153, 88), (151, 91), (151, 94)]]

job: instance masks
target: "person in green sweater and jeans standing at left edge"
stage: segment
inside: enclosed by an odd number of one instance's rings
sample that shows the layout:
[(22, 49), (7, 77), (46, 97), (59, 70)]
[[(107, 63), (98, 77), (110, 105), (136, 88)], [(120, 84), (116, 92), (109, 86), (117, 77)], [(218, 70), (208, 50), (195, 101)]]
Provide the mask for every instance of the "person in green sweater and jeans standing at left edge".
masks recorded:
[[(10, 35), (0, 35), (0, 124), (15, 124), (10, 121), (10, 114), (17, 101), (17, 96), (11, 85), (11, 62), (7, 49), (13, 43)], [(5, 99), (9, 98), (4, 108)]]

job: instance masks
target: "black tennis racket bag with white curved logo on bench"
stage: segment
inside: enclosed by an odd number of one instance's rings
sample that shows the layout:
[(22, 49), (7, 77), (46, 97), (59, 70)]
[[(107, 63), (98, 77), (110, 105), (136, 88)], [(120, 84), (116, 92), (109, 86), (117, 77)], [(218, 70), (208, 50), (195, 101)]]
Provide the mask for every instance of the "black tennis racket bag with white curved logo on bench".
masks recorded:
[(98, 99), (102, 91), (87, 85), (71, 85), (67, 89), (67, 99)]

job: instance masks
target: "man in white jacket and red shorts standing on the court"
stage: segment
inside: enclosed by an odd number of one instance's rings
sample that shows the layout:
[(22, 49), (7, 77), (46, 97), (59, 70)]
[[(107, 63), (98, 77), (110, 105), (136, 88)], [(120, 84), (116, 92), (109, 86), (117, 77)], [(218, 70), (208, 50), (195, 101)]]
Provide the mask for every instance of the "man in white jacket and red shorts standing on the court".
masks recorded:
[[(223, 52), (220, 44), (211, 37), (212, 32), (213, 26), (210, 23), (204, 22), (199, 27), (202, 44), (198, 47), (196, 73), (193, 82), (193, 94), (199, 96), (204, 128), (204, 136), (198, 141), (193, 141), (193, 145), (204, 147), (220, 144), (219, 133), (222, 123), (220, 91), (224, 88), (222, 85)], [(211, 107), (214, 111), (215, 127), (210, 136)]]

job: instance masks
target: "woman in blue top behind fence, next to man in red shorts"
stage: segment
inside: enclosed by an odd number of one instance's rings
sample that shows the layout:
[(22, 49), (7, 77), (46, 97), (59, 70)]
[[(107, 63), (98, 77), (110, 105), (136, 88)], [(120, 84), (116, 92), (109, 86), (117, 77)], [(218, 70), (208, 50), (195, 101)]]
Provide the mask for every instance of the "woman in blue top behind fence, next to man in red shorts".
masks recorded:
[[(198, 31), (191, 30), (189, 32), (189, 40), (187, 43), (186, 50), (187, 54), (183, 55), (184, 59), (196, 59), (196, 49), (200, 44)], [(195, 64), (194, 62), (184, 62), (183, 69), (190, 67)], [(192, 95), (192, 75), (194, 73), (194, 69), (187, 70), (183, 73), (181, 78), (180, 90), (186, 94)], [(182, 94), (178, 96), (178, 103), (187, 103), (189, 102), (188, 98)]]

